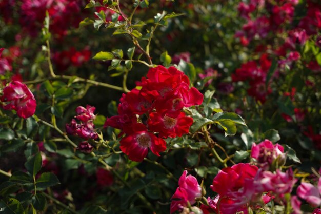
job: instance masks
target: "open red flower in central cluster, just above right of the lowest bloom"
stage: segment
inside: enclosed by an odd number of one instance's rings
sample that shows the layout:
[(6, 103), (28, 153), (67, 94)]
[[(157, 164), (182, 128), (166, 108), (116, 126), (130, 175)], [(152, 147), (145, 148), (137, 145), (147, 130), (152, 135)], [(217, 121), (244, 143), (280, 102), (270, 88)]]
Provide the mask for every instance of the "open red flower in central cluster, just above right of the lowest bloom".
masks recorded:
[(149, 117), (148, 128), (151, 131), (159, 132), (160, 138), (182, 137), (183, 134), (188, 133), (193, 123), (193, 119), (185, 116), (184, 112), (180, 112), (179, 115), (152, 112)]

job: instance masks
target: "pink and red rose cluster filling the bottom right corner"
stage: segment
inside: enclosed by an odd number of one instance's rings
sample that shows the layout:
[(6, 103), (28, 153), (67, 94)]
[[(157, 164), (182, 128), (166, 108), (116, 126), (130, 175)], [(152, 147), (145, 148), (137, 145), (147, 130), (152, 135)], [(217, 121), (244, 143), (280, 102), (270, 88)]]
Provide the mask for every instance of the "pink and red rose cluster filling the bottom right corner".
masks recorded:
[[(184, 171), (179, 179), (179, 186), (172, 196), (170, 212), (183, 211), (196, 201), (202, 204), (200, 209), (205, 214), (248, 213), (248, 209), (257, 210), (271, 200), (285, 205), (289, 202), (286, 194), (292, 192), (297, 182), (291, 168), (285, 172), (279, 169), (285, 162), (285, 156), (284, 148), (279, 144), (273, 145), (268, 140), (257, 145), (253, 144), (251, 158), (254, 164), (262, 168), (250, 163), (238, 163), (220, 170), (211, 185), (211, 189), (217, 193), (213, 199), (211, 197), (206, 199), (205, 191), (197, 179), (191, 175), (187, 176), (187, 171)], [(282, 162), (276, 170), (272, 167), (275, 162)], [(319, 189), (320, 185), (321, 179), (318, 184)], [(312, 184), (302, 183), (297, 189), (297, 195), (309, 204), (320, 206), (319, 191)], [(300, 209), (301, 202), (296, 196), (291, 203), (295, 212)]]

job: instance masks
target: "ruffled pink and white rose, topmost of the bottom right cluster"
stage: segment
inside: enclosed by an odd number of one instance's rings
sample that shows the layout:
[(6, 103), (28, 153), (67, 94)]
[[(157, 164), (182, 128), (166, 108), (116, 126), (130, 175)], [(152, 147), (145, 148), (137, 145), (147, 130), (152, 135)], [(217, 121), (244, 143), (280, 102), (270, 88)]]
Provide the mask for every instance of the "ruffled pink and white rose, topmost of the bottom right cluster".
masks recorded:
[(283, 146), (279, 144), (273, 145), (269, 140), (264, 140), (259, 144), (252, 144), (251, 157), (254, 158), (261, 167), (269, 168), (273, 161), (279, 157), (279, 165), (285, 162), (286, 154)]

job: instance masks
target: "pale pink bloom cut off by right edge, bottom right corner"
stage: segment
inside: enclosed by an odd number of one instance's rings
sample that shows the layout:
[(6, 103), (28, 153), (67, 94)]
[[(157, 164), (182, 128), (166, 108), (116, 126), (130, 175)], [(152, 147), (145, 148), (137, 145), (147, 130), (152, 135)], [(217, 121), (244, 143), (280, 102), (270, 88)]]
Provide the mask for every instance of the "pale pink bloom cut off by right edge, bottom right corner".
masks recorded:
[(318, 182), (318, 187), (313, 186), (310, 183), (302, 182), (297, 190), (296, 193), (298, 197), (306, 200), (312, 206), (320, 206), (321, 205), (321, 178)]

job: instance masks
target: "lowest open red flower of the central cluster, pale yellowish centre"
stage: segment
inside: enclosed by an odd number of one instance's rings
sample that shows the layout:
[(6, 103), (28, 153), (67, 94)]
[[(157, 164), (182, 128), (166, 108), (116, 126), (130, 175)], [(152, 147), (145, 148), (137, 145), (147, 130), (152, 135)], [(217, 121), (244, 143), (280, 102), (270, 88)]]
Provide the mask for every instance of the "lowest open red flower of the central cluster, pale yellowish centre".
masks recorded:
[(166, 149), (164, 139), (157, 138), (154, 134), (147, 131), (142, 123), (132, 124), (131, 127), (124, 127), (126, 136), (121, 140), (121, 150), (128, 155), (132, 161), (141, 162), (146, 157), (148, 147), (159, 156), (159, 152)]

